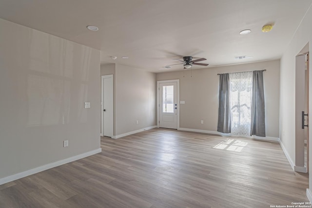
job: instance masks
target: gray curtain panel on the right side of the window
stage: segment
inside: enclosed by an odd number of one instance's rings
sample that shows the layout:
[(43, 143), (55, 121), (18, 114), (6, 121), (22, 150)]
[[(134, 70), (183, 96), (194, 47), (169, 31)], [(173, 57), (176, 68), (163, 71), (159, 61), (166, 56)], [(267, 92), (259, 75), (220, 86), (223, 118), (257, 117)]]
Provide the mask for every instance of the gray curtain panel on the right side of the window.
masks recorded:
[(253, 94), (250, 135), (265, 136), (263, 71), (253, 72)]

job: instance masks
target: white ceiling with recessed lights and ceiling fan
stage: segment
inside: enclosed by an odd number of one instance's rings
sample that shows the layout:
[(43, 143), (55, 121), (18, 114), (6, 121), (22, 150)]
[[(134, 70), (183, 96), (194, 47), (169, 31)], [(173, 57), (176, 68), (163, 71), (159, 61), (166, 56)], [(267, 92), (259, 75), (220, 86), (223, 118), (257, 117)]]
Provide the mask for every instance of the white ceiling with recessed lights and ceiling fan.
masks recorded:
[[(209, 67), (278, 59), (311, 4), (312, 0), (0, 0), (0, 18), (99, 49), (101, 63), (158, 73), (183, 70), (183, 65), (161, 68), (179, 63), (173, 59), (183, 56), (205, 57), (200, 63)], [(262, 33), (268, 23), (274, 24), (273, 30)], [(87, 25), (99, 31), (89, 31)], [(252, 32), (239, 35), (244, 29)]]

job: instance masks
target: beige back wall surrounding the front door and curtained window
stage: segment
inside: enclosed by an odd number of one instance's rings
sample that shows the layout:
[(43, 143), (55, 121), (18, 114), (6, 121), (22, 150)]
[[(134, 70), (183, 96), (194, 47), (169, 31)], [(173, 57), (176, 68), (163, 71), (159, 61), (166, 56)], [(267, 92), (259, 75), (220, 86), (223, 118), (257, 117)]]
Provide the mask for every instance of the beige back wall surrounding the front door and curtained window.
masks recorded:
[[(279, 137), (279, 60), (196, 69), (185, 72), (159, 73), (157, 81), (180, 80), (180, 128), (215, 131), (218, 121), (218, 73), (263, 70), (266, 134)], [(183, 77), (185, 76), (185, 77)], [(204, 124), (200, 124), (204, 120)]]

